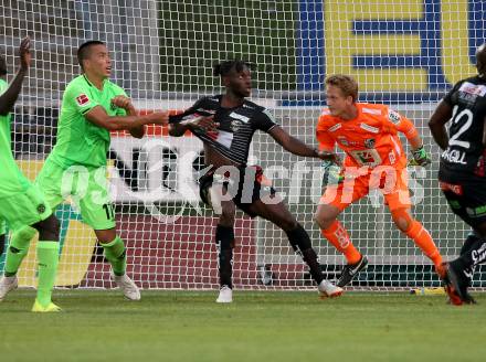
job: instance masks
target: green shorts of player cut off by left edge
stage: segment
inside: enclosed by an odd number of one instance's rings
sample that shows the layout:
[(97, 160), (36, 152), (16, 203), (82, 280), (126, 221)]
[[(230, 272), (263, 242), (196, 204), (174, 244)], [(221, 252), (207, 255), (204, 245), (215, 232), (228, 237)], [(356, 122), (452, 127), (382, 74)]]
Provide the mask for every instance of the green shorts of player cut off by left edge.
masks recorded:
[(33, 225), (51, 214), (52, 209), (35, 185), (29, 185), (24, 192), (0, 195), (0, 221), (8, 222), (11, 230)]

